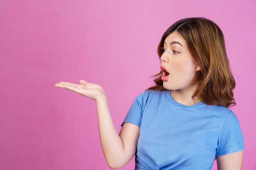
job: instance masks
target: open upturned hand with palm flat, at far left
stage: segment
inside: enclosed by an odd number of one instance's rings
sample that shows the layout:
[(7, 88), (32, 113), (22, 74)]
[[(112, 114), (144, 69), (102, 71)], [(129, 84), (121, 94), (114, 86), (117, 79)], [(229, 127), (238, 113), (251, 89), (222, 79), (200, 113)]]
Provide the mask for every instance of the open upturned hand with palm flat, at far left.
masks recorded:
[(76, 93), (79, 93), (80, 95), (94, 99), (95, 101), (101, 95), (106, 95), (102, 86), (100, 86), (99, 84), (89, 83), (83, 79), (81, 79), (79, 82), (81, 84), (73, 84), (73, 83), (69, 83), (69, 82), (59, 82), (59, 83), (55, 84), (55, 87), (60, 87), (60, 88), (64, 88), (67, 90), (74, 91)]

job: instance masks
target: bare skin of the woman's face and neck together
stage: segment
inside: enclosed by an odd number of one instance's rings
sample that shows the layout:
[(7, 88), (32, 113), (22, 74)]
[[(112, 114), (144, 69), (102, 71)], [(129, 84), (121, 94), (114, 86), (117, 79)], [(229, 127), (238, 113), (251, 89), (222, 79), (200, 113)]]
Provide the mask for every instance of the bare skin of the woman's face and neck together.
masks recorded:
[[(177, 41), (182, 44), (172, 44)], [(164, 88), (171, 91), (171, 95), (176, 102), (191, 106), (200, 102), (198, 97), (192, 99), (191, 96), (196, 86), (189, 88), (189, 84), (196, 76), (196, 71), (200, 67), (195, 62), (186, 45), (186, 41), (176, 31), (169, 34), (165, 39), (164, 53), (161, 56), (161, 65), (163, 65), (169, 74), (167, 81), (164, 81)], [(176, 52), (177, 51), (177, 52)]]

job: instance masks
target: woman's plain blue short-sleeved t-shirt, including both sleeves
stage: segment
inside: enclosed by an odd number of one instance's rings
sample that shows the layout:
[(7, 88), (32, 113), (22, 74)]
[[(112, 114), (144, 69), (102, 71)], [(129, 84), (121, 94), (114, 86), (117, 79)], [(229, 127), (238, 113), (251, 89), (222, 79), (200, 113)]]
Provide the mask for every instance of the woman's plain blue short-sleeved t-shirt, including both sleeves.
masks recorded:
[(211, 170), (216, 156), (244, 150), (237, 116), (225, 106), (186, 106), (171, 91), (136, 96), (124, 122), (140, 127), (135, 170)]

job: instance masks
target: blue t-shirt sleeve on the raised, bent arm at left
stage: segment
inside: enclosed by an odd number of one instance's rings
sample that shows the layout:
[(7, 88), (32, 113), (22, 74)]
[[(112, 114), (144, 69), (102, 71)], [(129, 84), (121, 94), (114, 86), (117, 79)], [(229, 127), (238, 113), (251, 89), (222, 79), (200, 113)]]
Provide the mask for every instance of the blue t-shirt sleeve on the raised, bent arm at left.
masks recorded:
[(130, 106), (128, 113), (126, 114), (126, 117), (124, 118), (124, 121), (121, 124), (121, 127), (124, 125), (125, 122), (130, 122), (140, 127), (143, 108), (144, 108), (145, 99), (146, 99), (146, 93), (148, 92), (144, 91), (143, 93), (135, 97), (135, 100), (132, 102), (132, 105)]

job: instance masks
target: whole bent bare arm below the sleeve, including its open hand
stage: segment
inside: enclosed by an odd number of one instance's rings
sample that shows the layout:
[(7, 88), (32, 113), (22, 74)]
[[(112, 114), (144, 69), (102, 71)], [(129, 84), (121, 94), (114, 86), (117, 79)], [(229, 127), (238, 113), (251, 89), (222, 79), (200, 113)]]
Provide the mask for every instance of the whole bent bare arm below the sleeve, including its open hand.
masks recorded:
[(102, 86), (82, 79), (79, 82), (81, 84), (59, 82), (55, 84), (55, 87), (74, 91), (96, 101), (101, 148), (108, 166), (112, 169), (125, 166), (135, 155), (139, 138), (139, 126), (126, 122), (118, 135), (109, 112), (106, 93)]

